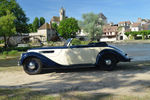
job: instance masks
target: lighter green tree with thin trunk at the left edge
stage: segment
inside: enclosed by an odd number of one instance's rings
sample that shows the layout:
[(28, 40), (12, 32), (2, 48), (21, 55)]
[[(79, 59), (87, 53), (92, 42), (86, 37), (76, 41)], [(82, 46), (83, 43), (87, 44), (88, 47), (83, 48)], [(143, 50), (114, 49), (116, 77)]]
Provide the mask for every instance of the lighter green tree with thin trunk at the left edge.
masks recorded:
[(16, 33), (14, 20), (16, 17), (9, 11), (5, 16), (0, 17), (0, 36), (4, 37), (5, 48), (8, 46), (8, 39)]

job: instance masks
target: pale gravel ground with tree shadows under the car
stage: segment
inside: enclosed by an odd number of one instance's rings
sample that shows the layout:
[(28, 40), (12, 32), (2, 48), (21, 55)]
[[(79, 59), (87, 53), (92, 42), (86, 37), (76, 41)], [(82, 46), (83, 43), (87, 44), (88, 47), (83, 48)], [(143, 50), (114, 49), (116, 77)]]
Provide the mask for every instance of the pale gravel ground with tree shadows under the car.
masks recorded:
[(150, 94), (150, 61), (118, 64), (114, 71), (96, 68), (49, 70), (40, 75), (22, 71), (0, 72), (0, 88), (30, 88), (47, 94)]

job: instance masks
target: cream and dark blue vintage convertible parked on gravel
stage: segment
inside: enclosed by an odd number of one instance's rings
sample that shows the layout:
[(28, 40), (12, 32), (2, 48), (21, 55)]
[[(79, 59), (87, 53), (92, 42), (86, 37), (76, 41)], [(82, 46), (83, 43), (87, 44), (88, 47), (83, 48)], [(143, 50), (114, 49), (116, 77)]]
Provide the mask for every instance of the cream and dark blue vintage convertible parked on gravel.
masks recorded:
[(129, 62), (122, 50), (105, 42), (88, 45), (71, 45), (68, 39), (63, 47), (30, 49), (21, 55), (19, 61), (27, 74), (41, 73), (44, 68), (77, 68), (95, 65), (103, 70), (113, 70), (118, 62)]

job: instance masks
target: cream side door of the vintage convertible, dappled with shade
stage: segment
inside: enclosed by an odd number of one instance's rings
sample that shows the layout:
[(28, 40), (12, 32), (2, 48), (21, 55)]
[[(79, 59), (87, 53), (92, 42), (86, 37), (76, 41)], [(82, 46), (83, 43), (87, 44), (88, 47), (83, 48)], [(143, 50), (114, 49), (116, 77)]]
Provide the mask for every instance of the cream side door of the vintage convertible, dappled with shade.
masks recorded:
[(66, 52), (67, 61), (72, 64), (94, 64), (95, 51), (91, 47), (69, 48)]

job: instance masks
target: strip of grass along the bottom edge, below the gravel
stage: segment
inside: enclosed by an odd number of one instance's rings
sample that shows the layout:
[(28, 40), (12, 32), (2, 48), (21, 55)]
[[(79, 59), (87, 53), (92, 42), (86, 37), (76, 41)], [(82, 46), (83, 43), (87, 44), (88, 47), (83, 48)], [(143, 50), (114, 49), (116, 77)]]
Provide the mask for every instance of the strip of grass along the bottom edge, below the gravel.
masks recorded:
[(40, 91), (22, 89), (0, 89), (0, 100), (150, 100), (150, 96), (128, 96), (111, 94), (63, 93), (49, 95)]

